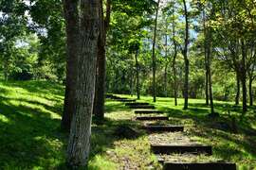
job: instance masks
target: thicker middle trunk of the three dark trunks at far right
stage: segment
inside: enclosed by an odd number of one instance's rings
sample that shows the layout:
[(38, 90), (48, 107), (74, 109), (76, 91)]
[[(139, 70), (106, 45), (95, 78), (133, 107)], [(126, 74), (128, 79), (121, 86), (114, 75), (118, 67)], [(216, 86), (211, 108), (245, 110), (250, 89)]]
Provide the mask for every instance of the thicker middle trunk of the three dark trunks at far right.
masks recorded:
[(241, 41), (241, 48), (242, 48), (242, 64), (241, 64), (241, 83), (243, 89), (243, 112), (247, 111), (247, 66), (246, 66), (246, 59), (247, 59), (247, 49), (244, 40)]

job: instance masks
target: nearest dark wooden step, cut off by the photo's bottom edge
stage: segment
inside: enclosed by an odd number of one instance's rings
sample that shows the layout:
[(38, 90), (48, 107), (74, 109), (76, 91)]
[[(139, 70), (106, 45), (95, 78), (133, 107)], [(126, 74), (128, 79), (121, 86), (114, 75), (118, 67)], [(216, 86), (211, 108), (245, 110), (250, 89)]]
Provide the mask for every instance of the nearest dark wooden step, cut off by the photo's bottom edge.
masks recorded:
[(164, 170), (236, 170), (229, 162), (164, 162)]

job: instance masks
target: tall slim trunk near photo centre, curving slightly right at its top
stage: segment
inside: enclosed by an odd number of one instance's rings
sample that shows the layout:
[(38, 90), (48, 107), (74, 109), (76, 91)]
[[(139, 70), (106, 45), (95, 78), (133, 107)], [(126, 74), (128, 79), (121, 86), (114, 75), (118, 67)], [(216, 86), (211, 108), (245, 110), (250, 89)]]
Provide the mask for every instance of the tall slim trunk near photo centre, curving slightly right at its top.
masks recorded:
[(152, 46), (152, 70), (153, 70), (153, 101), (156, 102), (156, 94), (155, 94), (155, 40), (156, 40), (156, 29), (157, 29), (157, 19), (158, 19), (158, 9), (159, 9), (160, 0), (157, 2), (156, 14), (155, 14), (155, 28), (154, 28), (154, 38), (153, 38), (153, 46)]

